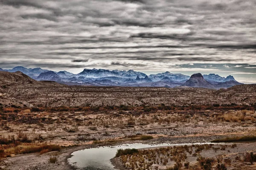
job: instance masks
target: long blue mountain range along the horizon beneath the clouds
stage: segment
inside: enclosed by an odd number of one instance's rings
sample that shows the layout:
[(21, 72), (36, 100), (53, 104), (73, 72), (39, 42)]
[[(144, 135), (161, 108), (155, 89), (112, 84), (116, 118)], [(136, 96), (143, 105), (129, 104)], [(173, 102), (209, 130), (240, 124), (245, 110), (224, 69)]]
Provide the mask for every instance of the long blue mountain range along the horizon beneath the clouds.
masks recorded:
[(78, 74), (67, 71), (54, 72), (47, 69), (27, 69), (17, 66), (13, 69), (0, 69), (5, 72), (22, 72), (37, 81), (56, 81), (67, 85), (83, 86), (144, 86), (144, 87), (202, 87), (209, 89), (229, 88), (241, 84), (233, 76), (226, 78), (215, 74), (183, 74), (163, 72), (146, 75), (134, 70), (84, 69)]

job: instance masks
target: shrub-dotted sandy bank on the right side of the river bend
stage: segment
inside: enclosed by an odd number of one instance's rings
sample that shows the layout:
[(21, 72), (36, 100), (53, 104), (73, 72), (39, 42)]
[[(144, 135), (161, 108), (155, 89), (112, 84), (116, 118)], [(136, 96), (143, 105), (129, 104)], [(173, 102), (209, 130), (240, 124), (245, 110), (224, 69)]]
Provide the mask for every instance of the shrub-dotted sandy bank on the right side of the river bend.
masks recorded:
[[(166, 170), (179, 167), (179, 170), (255, 170), (256, 165), (251, 159), (256, 156), (256, 143), (201, 144), (176, 147), (143, 148), (131, 155), (112, 158), (111, 163), (118, 170)], [(207, 163), (208, 162), (208, 163)], [(210, 162), (210, 163), (209, 163)], [(146, 168), (147, 167), (147, 168)]]

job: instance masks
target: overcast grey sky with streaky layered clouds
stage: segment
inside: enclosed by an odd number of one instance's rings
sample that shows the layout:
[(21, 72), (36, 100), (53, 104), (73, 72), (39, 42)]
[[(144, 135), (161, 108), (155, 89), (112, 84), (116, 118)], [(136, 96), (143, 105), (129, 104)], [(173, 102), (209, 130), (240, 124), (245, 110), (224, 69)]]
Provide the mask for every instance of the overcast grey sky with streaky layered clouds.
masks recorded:
[(255, 0), (0, 0), (0, 68), (233, 75), (256, 83)]

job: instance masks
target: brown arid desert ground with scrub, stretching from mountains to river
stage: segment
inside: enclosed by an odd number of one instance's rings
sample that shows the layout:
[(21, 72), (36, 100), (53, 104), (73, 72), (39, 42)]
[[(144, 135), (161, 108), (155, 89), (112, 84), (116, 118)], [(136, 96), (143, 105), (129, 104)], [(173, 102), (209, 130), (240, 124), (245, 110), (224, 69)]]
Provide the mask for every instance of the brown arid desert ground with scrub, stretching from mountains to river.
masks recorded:
[(149, 152), (155, 150), (123, 154), (113, 163), (134, 170), (256, 168), (255, 85), (210, 90), (6, 82), (0, 88), (2, 169), (75, 169), (67, 158), (90, 147), (211, 141), (222, 143), (163, 149), (154, 162)]

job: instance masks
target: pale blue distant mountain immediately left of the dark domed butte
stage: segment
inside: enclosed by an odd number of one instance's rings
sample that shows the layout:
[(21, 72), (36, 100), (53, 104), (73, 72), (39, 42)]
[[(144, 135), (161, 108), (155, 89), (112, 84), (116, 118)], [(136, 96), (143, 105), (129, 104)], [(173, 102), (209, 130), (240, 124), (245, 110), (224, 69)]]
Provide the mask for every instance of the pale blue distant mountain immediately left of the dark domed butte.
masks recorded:
[(163, 78), (170, 78), (170, 80), (172, 81), (184, 81), (189, 79), (188, 75), (173, 74), (170, 72), (163, 72), (163, 73), (158, 73), (156, 75), (149, 75), (148, 77), (151, 78), (152, 81), (160, 81)]

